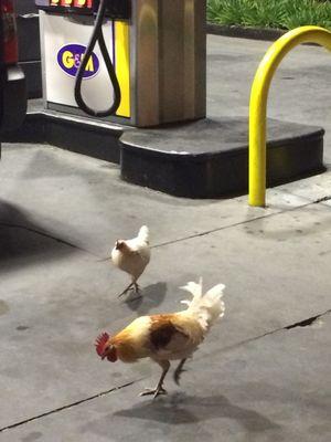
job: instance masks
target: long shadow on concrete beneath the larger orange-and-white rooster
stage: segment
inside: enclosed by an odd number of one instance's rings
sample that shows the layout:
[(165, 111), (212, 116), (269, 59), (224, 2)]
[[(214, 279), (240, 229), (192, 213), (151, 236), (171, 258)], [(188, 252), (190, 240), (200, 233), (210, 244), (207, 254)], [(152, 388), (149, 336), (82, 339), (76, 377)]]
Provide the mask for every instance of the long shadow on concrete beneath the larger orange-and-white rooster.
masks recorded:
[(233, 419), (248, 432), (257, 433), (278, 429), (279, 424), (255, 410), (232, 403), (225, 396), (195, 397), (175, 393), (170, 397), (159, 397), (135, 407), (119, 410), (116, 417), (142, 419), (169, 424), (196, 423), (211, 419)]

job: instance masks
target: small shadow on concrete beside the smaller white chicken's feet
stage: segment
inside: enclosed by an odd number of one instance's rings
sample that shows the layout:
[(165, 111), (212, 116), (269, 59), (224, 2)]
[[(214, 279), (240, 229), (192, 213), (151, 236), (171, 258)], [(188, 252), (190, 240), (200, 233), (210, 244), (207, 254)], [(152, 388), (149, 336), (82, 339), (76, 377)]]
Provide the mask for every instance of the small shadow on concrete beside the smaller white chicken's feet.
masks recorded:
[(141, 296), (128, 297), (125, 303), (137, 312), (139, 316), (148, 314), (152, 308), (158, 307), (164, 301), (167, 294), (167, 283), (160, 282), (148, 285), (142, 290)]

